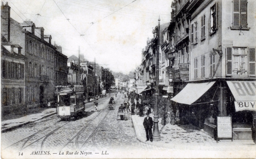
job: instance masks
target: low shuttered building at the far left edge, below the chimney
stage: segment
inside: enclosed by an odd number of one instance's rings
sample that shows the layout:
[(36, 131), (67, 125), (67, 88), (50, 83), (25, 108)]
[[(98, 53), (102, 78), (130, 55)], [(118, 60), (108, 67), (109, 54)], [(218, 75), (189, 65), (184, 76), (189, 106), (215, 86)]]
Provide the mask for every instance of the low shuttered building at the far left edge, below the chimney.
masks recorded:
[[(5, 11), (5, 7), (2, 7)], [(1, 21), (2, 25), (4, 20)], [(5, 29), (1, 27), (1, 29)], [(25, 60), (21, 47), (1, 34), (1, 115), (26, 109)]]

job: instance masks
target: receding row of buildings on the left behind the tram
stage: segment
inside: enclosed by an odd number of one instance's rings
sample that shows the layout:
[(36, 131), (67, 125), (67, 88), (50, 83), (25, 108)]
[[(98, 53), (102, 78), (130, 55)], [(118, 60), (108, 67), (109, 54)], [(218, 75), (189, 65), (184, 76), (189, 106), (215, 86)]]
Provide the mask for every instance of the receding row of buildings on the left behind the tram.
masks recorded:
[(87, 95), (94, 91), (91, 63), (82, 60), (79, 66), (72, 58), (68, 60), (43, 27), (32, 21), (15, 21), (10, 10), (8, 2), (1, 3), (2, 115), (55, 104), (56, 85), (85, 82)]

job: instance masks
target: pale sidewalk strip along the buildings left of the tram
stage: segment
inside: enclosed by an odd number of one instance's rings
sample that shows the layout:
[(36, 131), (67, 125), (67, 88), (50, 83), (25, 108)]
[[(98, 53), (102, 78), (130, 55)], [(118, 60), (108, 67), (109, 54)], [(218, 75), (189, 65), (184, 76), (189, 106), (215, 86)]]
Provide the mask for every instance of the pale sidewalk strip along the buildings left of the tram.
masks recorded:
[(17, 127), (20, 127), (22, 125), (32, 123), (36, 120), (46, 118), (54, 114), (56, 114), (56, 108), (49, 108), (40, 113), (27, 115), (21, 118), (1, 121), (1, 132), (3, 133), (16, 129)]

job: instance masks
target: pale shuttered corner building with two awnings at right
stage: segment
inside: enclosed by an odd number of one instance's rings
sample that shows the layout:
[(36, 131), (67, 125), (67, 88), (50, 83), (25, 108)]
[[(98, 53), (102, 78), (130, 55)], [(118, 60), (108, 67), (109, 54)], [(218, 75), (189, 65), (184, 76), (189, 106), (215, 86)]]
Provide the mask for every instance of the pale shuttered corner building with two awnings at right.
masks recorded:
[[(234, 139), (255, 136), (255, 7), (253, 0), (176, 1), (175, 21), (182, 24), (183, 19), (184, 29), (190, 31), (184, 44), (175, 47), (188, 47), (190, 74), (188, 82), (174, 85), (176, 96), (171, 100), (178, 103), (184, 123), (215, 138), (218, 116), (232, 117), (225, 133)], [(185, 32), (182, 25), (181, 31)], [(180, 61), (179, 53), (177, 57)]]

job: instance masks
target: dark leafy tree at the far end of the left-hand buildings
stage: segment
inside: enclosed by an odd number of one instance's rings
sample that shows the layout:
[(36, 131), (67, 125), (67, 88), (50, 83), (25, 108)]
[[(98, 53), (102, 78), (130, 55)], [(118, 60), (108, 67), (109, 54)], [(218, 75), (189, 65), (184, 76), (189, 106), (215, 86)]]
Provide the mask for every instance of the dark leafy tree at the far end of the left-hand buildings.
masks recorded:
[(115, 84), (115, 78), (109, 68), (102, 69), (101, 80), (104, 83), (104, 88), (109, 91), (110, 87)]

